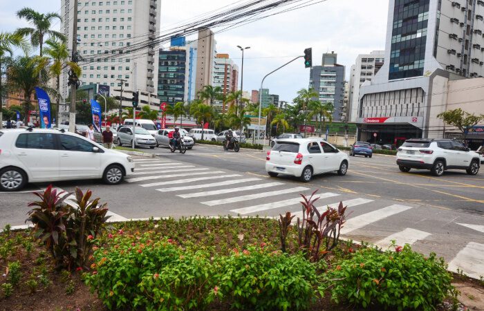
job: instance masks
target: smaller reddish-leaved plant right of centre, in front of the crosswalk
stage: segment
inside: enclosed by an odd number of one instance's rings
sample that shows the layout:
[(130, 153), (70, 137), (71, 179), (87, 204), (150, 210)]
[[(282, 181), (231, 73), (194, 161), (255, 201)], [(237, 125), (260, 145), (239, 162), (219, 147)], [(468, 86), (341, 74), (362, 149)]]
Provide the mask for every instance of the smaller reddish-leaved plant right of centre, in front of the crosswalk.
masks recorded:
[(304, 251), (310, 261), (319, 261), (324, 258), (331, 249), (335, 248), (339, 241), (339, 233), (346, 223), (346, 207), (339, 202), (337, 208), (327, 207), (326, 211), (320, 213), (315, 202), (317, 190), (309, 197), (301, 194), (303, 198), (302, 221), (297, 218), (297, 241), (299, 248)]

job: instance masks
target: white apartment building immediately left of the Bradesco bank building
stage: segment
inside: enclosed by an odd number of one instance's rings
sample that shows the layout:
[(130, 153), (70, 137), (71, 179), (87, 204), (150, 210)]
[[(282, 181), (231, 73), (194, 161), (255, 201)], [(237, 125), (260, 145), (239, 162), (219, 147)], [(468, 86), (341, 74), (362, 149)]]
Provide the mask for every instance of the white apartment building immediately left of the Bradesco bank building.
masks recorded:
[(369, 54), (360, 54), (356, 57), (350, 73), (348, 121), (356, 121), (360, 86), (366, 81), (371, 81), (371, 78), (378, 73), (383, 66), (384, 57), (384, 50), (374, 50)]

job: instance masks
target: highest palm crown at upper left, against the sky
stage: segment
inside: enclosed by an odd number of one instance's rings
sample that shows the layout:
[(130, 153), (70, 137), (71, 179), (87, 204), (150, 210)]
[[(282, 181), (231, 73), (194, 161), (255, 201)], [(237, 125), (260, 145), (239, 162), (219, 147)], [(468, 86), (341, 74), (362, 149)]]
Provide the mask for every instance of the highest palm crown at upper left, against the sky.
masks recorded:
[(66, 37), (61, 32), (50, 30), (50, 26), (52, 26), (54, 19), (62, 21), (60, 15), (55, 12), (42, 14), (31, 8), (22, 8), (17, 12), (17, 17), (19, 17), (19, 19), (26, 19), (33, 28), (19, 28), (15, 33), (23, 37), (30, 36), (30, 43), (32, 46), (39, 46), (40, 56), (42, 56), (43, 52), (44, 35), (48, 35), (52, 39), (66, 41)]

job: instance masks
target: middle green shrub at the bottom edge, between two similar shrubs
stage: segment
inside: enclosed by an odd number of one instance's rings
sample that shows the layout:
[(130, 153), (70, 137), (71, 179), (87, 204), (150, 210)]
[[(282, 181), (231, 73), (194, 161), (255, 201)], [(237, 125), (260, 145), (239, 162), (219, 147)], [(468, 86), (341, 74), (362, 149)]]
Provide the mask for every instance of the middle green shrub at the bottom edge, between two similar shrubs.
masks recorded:
[(301, 255), (249, 247), (216, 259), (212, 294), (244, 310), (300, 310), (315, 299), (315, 265)]

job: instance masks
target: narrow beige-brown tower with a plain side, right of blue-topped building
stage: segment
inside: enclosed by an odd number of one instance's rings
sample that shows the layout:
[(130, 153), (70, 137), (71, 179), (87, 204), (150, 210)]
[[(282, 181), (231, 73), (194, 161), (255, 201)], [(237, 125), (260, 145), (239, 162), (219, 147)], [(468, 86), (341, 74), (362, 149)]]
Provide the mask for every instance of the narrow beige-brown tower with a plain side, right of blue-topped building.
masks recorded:
[(212, 85), (215, 46), (216, 42), (212, 30), (198, 31), (195, 93), (201, 91), (203, 86)]

